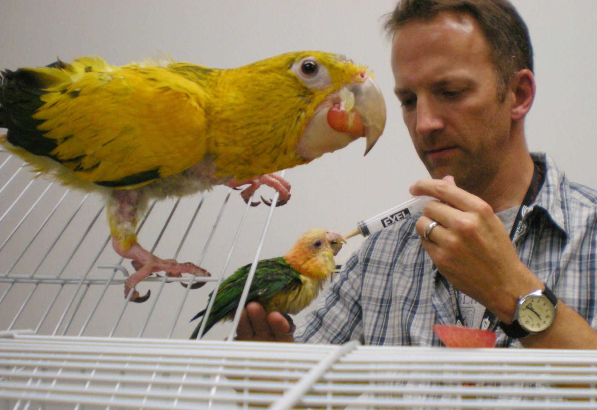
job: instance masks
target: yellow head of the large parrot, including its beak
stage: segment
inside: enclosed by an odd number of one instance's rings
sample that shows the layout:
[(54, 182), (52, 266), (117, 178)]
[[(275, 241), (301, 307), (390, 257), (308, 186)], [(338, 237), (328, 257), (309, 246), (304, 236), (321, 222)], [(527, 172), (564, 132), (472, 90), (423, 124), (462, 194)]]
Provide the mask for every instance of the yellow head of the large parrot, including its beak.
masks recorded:
[[(230, 115), (267, 124), (259, 132), (283, 135), (279, 142), (302, 163), (359, 137), (367, 140), (367, 154), (383, 132), (386, 106), (371, 72), (344, 56), (297, 51), (227, 71), (224, 84), (230, 87), (223, 88), (243, 111)], [(242, 92), (230, 93), (236, 84)]]

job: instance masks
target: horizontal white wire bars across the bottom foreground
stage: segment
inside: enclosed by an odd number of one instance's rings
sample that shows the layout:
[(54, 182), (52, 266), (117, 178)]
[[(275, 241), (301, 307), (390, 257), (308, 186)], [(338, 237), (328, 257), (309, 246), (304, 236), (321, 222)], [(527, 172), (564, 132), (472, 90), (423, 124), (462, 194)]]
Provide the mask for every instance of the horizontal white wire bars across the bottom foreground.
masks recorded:
[(591, 351), (11, 336), (0, 338), (2, 408), (597, 406)]

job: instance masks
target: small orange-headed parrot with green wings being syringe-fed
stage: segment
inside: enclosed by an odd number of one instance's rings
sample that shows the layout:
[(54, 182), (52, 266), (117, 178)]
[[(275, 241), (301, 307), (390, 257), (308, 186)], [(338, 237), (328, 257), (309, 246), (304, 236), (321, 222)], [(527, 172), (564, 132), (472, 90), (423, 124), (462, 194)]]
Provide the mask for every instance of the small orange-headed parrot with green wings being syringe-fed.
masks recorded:
[[(296, 315), (315, 299), (325, 279), (336, 268), (334, 256), (342, 248), (342, 242), (346, 241), (336, 232), (311, 229), (283, 257), (258, 261), (247, 303), (257, 301), (267, 313)], [(206, 333), (220, 320), (233, 319), (250, 269), (251, 264), (240, 267), (221, 283), (205, 324)], [(213, 292), (210, 299), (212, 296)], [(205, 309), (191, 321), (204, 315)], [(200, 328), (201, 322), (190, 338), (197, 338)]]

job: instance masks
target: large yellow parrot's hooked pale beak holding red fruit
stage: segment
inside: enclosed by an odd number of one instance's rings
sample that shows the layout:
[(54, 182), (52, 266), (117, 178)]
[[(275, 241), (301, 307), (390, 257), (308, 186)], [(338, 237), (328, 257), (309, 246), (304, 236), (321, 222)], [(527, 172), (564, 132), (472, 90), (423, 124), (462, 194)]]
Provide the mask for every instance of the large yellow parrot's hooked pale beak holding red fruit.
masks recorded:
[[(341, 88), (340, 101), (328, 110), (328, 124), (336, 131), (365, 137), (365, 155), (373, 148), (386, 126), (386, 102), (377, 84), (363, 72), (353, 84)], [(365, 79), (364, 81), (362, 79)]]

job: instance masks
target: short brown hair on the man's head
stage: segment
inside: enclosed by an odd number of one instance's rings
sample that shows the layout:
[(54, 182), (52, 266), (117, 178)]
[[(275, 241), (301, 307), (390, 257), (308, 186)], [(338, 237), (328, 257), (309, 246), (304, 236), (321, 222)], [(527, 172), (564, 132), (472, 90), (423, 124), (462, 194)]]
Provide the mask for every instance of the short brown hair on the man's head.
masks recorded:
[(533, 71), (527, 24), (507, 0), (399, 0), (394, 11), (386, 15), (384, 28), (393, 37), (409, 21), (429, 21), (441, 11), (468, 14), (479, 24), (490, 46), (500, 99), (515, 72)]

